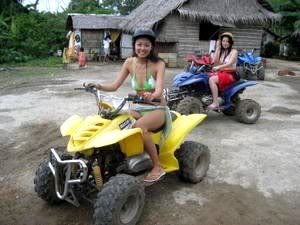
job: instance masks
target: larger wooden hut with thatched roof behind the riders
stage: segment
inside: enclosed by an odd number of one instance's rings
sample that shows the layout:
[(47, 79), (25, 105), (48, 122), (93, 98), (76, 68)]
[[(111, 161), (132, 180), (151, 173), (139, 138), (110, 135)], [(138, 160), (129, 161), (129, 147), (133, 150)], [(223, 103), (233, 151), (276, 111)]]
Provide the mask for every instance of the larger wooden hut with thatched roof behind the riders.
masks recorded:
[(120, 27), (152, 28), (166, 61), (182, 66), (186, 54), (207, 53), (225, 31), (233, 33), (235, 48), (260, 49), (263, 26), (278, 19), (266, 0), (145, 0)]

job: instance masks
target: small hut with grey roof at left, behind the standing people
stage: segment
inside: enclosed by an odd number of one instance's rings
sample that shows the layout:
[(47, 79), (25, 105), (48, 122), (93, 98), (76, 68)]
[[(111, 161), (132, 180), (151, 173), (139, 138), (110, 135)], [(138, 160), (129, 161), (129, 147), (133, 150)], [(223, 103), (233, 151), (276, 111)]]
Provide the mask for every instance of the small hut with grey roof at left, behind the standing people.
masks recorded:
[(120, 51), (119, 24), (124, 20), (125, 17), (114, 15), (69, 14), (66, 29), (75, 32), (75, 46), (83, 47), (91, 60), (99, 55), (106, 32), (110, 33), (113, 44)]

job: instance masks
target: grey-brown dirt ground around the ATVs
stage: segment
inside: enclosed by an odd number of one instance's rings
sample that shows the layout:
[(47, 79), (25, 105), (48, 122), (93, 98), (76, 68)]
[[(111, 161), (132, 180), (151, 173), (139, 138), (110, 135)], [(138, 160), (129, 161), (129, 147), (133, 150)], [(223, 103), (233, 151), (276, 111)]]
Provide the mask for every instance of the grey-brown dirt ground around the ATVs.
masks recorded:
[[(109, 82), (120, 64), (86, 70), (15, 68), (0, 72), (0, 224), (88, 225), (92, 207), (49, 206), (34, 192), (33, 177), (49, 148), (62, 146), (60, 124), (73, 114), (95, 114), (93, 96), (74, 91), (83, 82)], [(277, 76), (288, 67), (295, 77)], [(182, 69), (167, 69), (167, 86)], [(199, 184), (168, 175), (146, 188), (139, 225), (300, 224), (300, 63), (269, 60), (266, 80), (243, 98), (262, 106), (254, 125), (214, 112), (188, 137), (211, 150)], [(129, 82), (116, 94), (124, 96)]]

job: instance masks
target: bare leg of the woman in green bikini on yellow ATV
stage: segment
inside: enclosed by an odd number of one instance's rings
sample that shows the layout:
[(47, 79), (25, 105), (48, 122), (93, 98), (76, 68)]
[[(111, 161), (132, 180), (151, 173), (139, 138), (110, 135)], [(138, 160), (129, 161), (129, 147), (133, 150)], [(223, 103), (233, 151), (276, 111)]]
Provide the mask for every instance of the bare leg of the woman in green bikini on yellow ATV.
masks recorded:
[(164, 124), (164, 122), (165, 112), (162, 110), (155, 110), (147, 113), (146, 115), (138, 119), (134, 125), (134, 127), (139, 127), (143, 130), (143, 141), (145, 145), (145, 150), (149, 154), (153, 163), (153, 168), (149, 173), (149, 177), (158, 177), (162, 173), (162, 168), (159, 165), (156, 147), (151, 139), (149, 131), (158, 129)]

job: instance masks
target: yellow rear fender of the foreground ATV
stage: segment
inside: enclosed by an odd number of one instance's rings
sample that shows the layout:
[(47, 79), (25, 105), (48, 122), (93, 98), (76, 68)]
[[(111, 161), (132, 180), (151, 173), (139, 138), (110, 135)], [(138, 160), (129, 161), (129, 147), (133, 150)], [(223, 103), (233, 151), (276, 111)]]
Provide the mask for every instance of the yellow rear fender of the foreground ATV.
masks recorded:
[(174, 155), (175, 151), (180, 147), (192, 129), (205, 118), (205, 114), (181, 115), (173, 122), (172, 131), (159, 152), (160, 164), (166, 172), (179, 169), (178, 160)]

